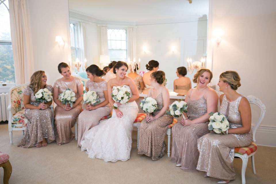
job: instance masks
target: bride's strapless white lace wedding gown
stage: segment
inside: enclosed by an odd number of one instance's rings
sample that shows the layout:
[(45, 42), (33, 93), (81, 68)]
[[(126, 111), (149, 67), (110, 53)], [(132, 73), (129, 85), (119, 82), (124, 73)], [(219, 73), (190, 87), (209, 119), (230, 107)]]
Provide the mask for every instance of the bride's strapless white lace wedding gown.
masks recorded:
[[(129, 86), (124, 86), (130, 89)], [(122, 118), (117, 118), (113, 110), (111, 118), (87, 131), (81, 141), (81, 151), (87, 150), (89, 158), (99, 158), (106, 162), (127, 161), (130, 158), (132, 127), (138, 106), (132, 101), (120, 105), (118, 109), (123, 112)]]

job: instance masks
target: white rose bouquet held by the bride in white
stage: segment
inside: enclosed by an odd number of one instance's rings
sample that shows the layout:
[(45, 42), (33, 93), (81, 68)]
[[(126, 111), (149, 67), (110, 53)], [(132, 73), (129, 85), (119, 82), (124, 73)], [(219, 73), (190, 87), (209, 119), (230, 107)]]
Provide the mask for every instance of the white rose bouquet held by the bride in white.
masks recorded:
[[(124, 86), (113, 86), (111, 97), (115, 102), (125, 104), (130, 99), (130, 91)], [(117, 104), (114, 103), (112, 108), (117, 109)]]

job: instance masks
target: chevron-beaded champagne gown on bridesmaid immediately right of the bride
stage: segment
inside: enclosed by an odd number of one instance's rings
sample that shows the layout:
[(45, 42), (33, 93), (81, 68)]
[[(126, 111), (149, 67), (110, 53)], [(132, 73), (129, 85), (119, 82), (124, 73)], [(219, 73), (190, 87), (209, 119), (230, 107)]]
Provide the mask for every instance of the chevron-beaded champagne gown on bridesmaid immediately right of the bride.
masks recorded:
[[(150, 92), (150, 97), (152, 93)], [(155, 98), (157, 102), (157, 111), (153, 116), (163, 108), (162, 92)], [(152, 157), (152, 160), (159, 160), (166, 149), (164, 142), (168, 125), (173, 122), (173, 116), (163, 114), (158, 119), (148, 123), (146, 118), (140, 124), (139, 148), (138, 154), (144, 154)]]

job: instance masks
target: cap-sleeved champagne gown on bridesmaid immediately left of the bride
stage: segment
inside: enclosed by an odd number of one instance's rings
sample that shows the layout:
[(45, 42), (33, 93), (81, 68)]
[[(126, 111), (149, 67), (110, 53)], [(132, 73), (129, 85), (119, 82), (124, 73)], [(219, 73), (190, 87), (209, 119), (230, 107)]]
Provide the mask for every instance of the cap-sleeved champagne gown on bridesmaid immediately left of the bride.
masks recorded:
[[(95, 91), (99, 95), (99, 100), (101, 102), (105, 101), (104, 91), (107, 91), (107, 82), (102, 81), (100, 83), (94, 83), (93, 81), (87, 81), (85, 87), (89, 91)], [(107, 104), (104, 107), (99, 107), (95, 110), (83, 110), (81, 114), (78, 115), (78, 147), (81, 147), (81, 141), (84, 139), (86, 132), (92, 127), (99, 124), (102, 117), (108, 116), (110, 114), (110, 105)]]

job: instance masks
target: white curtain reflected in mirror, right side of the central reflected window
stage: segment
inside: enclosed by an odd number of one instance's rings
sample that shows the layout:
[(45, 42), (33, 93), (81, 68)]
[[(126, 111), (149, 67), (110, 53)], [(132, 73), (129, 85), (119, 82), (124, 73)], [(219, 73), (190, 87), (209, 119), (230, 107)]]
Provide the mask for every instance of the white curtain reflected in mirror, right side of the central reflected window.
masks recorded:
[(136, 58), (136, 28), (127, 28), (127, 55), (131, 61)]

